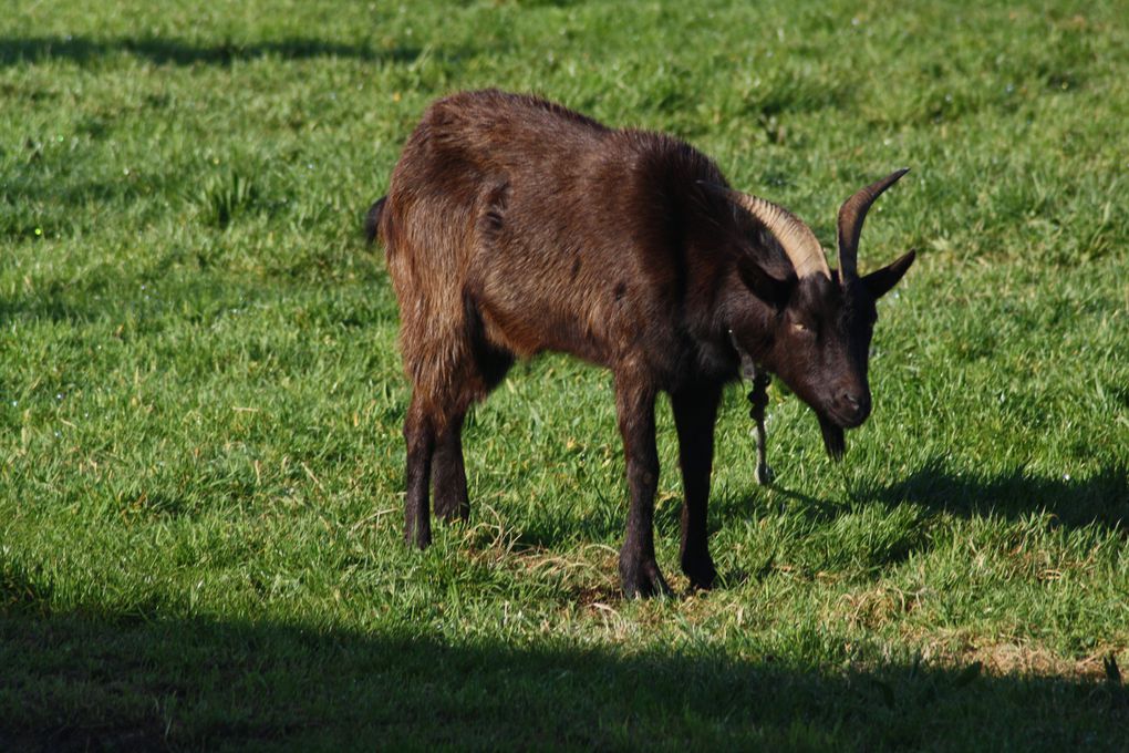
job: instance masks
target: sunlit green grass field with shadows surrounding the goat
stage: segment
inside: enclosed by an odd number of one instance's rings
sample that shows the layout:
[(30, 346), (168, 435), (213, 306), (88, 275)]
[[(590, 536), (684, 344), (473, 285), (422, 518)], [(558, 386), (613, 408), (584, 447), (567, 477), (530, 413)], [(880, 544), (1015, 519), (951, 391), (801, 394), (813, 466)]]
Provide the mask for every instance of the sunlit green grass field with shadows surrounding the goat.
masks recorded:
[[(1126, 750), (1129, 5), (148, 3), (0, 14), (0, 748)], [(606, 373), (514, 370), (402, 542), (364, 245), (426, 104), (677, 134), (860, 263), (875, 412), (718, 427), (709, 594), (625, 602)], [(659, 563), (680, 593), (668, 406)]]

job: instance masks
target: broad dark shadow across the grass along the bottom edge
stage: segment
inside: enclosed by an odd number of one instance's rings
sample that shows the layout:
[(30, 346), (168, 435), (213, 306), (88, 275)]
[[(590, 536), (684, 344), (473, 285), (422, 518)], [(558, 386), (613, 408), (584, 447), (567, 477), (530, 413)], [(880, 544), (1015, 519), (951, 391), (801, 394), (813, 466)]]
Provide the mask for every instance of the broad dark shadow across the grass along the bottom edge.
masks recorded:
[(0, 611), (0, 747), (1120, 748), (1120, 681)]

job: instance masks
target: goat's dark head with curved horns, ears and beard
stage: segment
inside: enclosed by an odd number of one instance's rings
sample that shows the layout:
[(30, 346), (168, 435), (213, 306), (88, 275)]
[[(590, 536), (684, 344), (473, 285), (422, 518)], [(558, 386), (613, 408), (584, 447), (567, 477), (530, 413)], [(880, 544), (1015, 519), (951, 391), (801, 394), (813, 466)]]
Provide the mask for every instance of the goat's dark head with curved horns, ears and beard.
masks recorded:
[(839, 269), (829, 269), (811, 228), (782, 207), (756, 196), (725, 190), (780, 243), (791, 270), (773, 269), (758, 254), (742, 253), (737, 272), (742, 283), (769, 305), (730, 310), (734, 342), (780, 377), (820, 419), (828, 453), (843, 454), (843, 429), (861, 424), (870, 414), (867, 380), (870, 338), (877, 319), (875, 301), (913, 263), (909, 252), (889, 266), (859, 277), (858, 238), (870, 204), (894, 184), (898, 170), (848, 199), (839, 210)]

